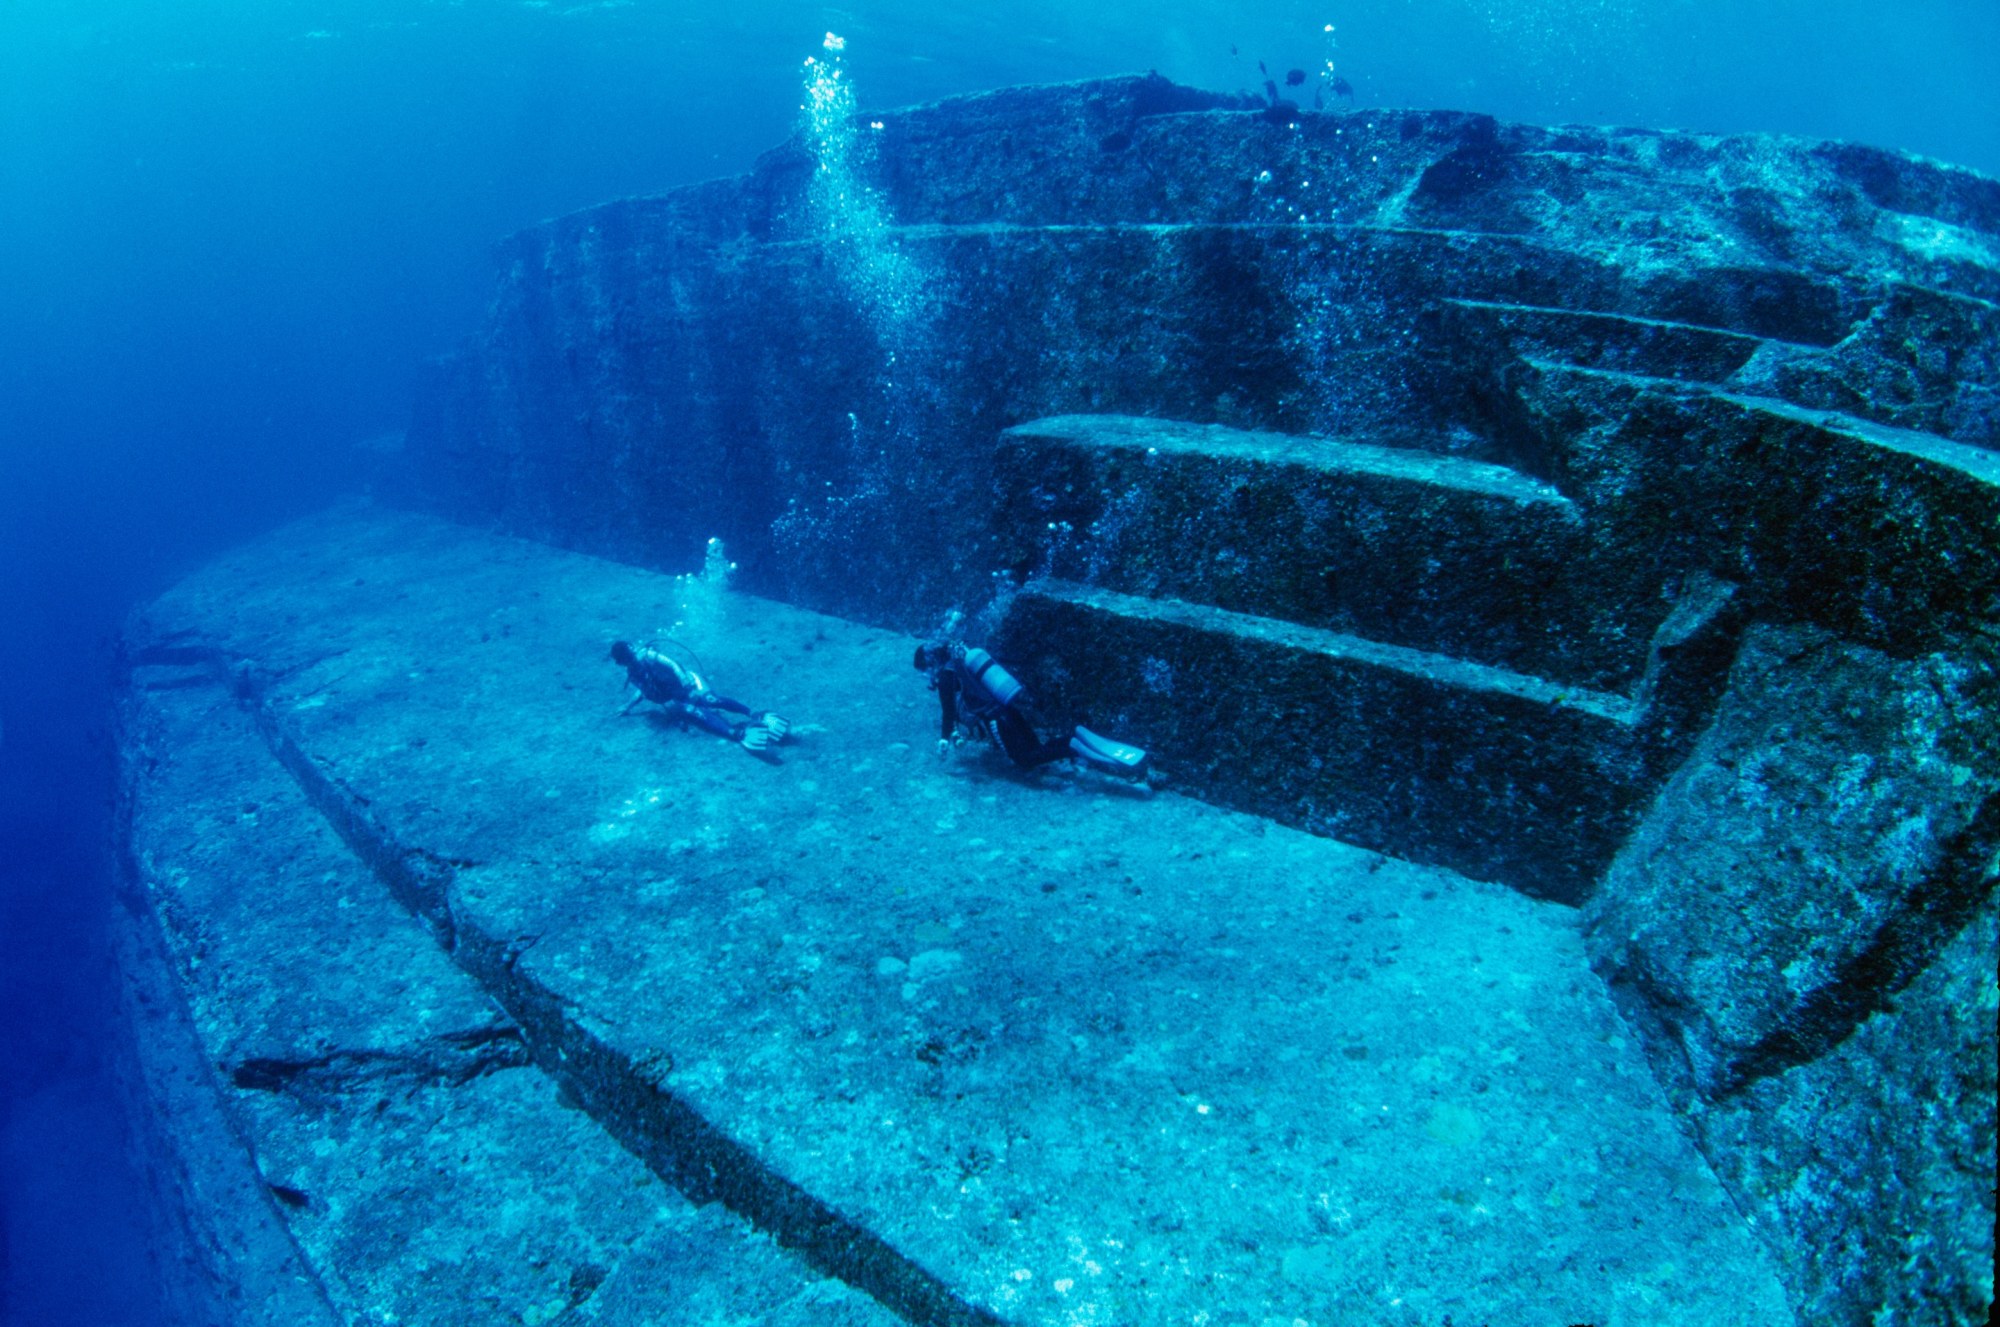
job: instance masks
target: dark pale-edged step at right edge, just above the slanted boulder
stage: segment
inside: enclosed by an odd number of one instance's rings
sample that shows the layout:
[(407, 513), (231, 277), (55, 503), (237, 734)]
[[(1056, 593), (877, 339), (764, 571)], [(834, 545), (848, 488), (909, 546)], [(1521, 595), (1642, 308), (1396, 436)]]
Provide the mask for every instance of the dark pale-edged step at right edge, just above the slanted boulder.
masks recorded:
[(1526, 360), (1530, 400), (1592, 400), (1624, 456), (1580, 448), (1564, 488), (1608, 562), (1704, 570), (1754, 612), (1898, 656), (2000, 616), (2000, 452), (1840, 412)]

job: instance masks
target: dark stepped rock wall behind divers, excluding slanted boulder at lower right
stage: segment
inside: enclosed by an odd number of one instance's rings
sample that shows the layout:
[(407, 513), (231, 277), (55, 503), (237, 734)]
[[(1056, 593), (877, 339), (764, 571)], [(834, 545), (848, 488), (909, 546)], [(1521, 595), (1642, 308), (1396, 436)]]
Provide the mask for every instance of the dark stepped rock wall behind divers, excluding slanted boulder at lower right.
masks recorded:
[(1570, 901), (1746, 622), (2000, 604), (1992, 180), (1158, 78), (856, 134), (856, 216), (792, 144), (508, 242), (430, 502), (906, 630), (1026, 580), (996, 642), (1182, 787)]

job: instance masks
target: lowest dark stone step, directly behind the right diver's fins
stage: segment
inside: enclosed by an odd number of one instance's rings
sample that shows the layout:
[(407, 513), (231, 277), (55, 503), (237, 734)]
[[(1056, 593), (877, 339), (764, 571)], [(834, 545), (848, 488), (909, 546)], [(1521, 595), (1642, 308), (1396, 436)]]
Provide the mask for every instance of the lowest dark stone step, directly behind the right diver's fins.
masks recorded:
[(1536, 897), (1582, 901), (1734, 652), (1726, 588), (1660, 632), (1634, 695), (1206, 604), (1036, 582), (996, 650), (1044, 699), (1192, 753), (1178, 785)]

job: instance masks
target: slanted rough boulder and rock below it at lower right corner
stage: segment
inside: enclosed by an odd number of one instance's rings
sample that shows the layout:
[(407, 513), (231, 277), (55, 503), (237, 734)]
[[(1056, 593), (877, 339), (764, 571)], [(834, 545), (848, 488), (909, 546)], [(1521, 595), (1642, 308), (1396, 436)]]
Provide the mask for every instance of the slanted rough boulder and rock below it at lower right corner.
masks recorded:
[(1584, 909), (1806, 1321), (1992, 1301), (2000, 669), (1750, 632)]

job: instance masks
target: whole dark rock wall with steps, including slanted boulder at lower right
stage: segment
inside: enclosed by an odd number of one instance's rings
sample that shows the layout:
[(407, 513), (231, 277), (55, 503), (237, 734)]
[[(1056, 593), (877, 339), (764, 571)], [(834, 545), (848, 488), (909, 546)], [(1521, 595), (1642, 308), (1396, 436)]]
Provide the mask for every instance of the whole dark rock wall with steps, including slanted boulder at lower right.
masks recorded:
[(1180, 787), (1584, 903), (1802, 1319), (1976, 1317), (2000, 184), (1158, 78), (870, 122), (860, 214), (792, 144), (512, 238), (416, 492), (968, 610)]

